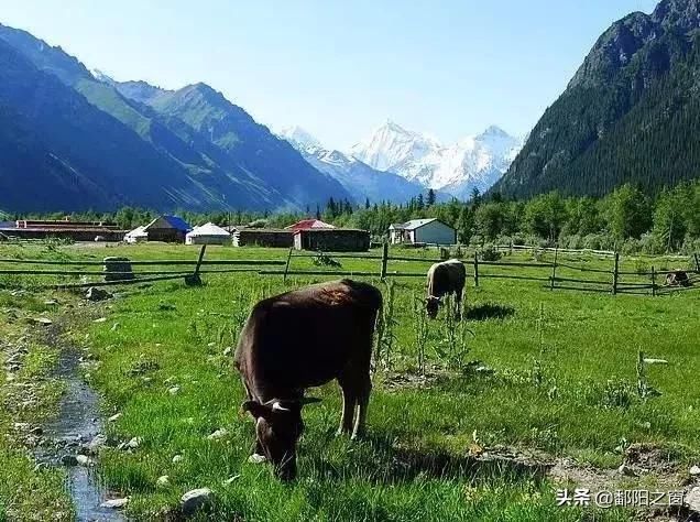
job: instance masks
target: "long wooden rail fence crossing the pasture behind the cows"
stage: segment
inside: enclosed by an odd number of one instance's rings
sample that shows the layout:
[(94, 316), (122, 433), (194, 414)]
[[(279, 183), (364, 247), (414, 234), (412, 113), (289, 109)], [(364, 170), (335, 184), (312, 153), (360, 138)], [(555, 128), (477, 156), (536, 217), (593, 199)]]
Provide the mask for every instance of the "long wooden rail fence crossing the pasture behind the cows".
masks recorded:
[[(296, 252), (289, 249), (283, 259), (205, 259), (206, 246), (203, 246), (197, 259), (182, 260), (134, 260), (129, 263), (134, 268), (145, 268), (133, 272), (109, 272), (112, 276), (123, 275), (124, 279), (105, 281), (107, 272), (97, 271), (95, 267), (103, 267), (103, 261), (77, 261), (77, 260), (28, 260), (28, 259), (0, 259), (0, 276), (42, 276), (53, 275), (63, 278), (81, 278), (83, 281), (53, 282), (35, 286), (46, 289), (84, 289), (89, 286), (110, 286), (119, 284), (134, 284), (155, 281), (184, 279), (187, 284), (200, 284), (204, 274), (231, 274), (238, 272), (251, 272), (261, 275), (282, 275), (284, 280), (292, 275), (316, 276), (374, 276), (386, 278), (425, 278), (429, 264), (445, 259), (429, 257), (390, 255), (389, 244), (384, 244), (381, 253), (331, 253), (332, 260), (372, 260), (376, 262), (375, 271), (357, 270), (317, 270), (294, 269), (294, 260), (299, 258), (322, 257), (319, 252)], [(480, 259), (478, 251), (473, 257), (464, 260), (468, 272), (473, 279), (474, 286), (479, 286), (484, 279), (503, 279), (516, 281), (533, 281), (543, 283), (544, 287), (555, 290), (568, 290), (580, 292), (601, 292), (616, 294), (648, 294), (661, 295), (669, 292), (686, 291), (700, 287), (700, 259), (698, 254), (691, 257), (694, 270), (686, 270), (689, 275), (688, 286), (668, 286), (666, 276), (675, 270), (658, 270), (650, 267), (649, 270), (624, 271), (621, 270), (619, 253), (614, 253), (610, 260), (610, 268), (581, 267), (561, 260), (567, 250), (554, 249), (551, 261), (486, 261)], [(446, 252), (444, 252), (446, 253)], [(602, 262), (602, 261), (601, 261)], [(412, 267), (409, 270), (395, 270), (395, 263)], [(12, 267), (12, 268), (7, 268)], [(17, 268), (14, 268), (17, 267)], [(415, 267), (415, 269), (413, 268)], [(88, 278), (98, 278), (98, 281), (87, 281)]]

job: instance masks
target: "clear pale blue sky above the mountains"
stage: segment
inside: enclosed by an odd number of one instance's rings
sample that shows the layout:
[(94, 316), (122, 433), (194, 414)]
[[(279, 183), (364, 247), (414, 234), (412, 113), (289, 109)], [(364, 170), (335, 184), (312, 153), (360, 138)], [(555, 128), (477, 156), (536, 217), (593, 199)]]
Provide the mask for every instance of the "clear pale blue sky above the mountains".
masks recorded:
[(387, 118), (452, 142), (525, 133), (598, 36), (655, 0), (0, 0), (117, 79), (206, 81), (272, 128), (347, 149)]

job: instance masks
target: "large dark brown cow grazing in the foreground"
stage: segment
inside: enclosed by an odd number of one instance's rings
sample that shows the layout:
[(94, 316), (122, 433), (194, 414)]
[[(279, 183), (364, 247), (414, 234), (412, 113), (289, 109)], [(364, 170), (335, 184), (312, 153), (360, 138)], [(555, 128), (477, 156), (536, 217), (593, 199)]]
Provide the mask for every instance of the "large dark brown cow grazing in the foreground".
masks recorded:
[[(236, 349), (255, 420), (255, 456), (264, 456), (282, 479), (296, 476), (296, 445), (304, 429), (307, 388), (333, 379), (342, 390), (339, 433), (364, 431), (372, 383), (370, 361), (382, 294), (374, 286), (341, 280), (315, 284), (259, 302)], [(359, 405), (353, 426), (356, 405)], [(262, 458), (258, 458), (262, 460)]]

